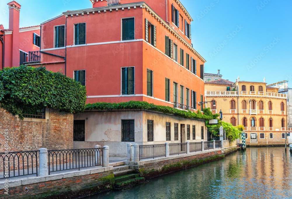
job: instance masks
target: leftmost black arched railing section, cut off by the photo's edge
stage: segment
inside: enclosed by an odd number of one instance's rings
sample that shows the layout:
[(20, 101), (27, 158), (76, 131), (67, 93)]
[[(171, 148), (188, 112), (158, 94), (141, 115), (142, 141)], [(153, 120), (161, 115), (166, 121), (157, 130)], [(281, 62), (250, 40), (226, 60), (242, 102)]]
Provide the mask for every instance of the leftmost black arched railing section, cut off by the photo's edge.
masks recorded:
[[(38, 175), (39, 151), (0, 153), (0, 179), (26, 175)], [(3, 174), (3, 175), (2, 175)]]

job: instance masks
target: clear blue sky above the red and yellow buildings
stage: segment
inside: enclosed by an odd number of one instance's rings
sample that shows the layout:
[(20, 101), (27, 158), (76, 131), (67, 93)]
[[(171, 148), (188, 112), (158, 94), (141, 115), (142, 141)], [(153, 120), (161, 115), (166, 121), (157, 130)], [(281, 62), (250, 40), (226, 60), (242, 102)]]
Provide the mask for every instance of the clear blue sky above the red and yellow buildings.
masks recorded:
[[(0, 2), (0, 24), (4, 28), (8, 28), (8, 2)], [(220, 69), (223, 78), (233, 82), (237, 76), (245, 81), (263, 81), (265, 77), (268, 84), (292, 81), (292, 1), (181, 2), (194, 20), (192, 43), (207, 61), (206, 73)], [(22, 6), (20, 27), (38, 25), (66, 10), (91, 8), (89, 0), (18, 3)]]

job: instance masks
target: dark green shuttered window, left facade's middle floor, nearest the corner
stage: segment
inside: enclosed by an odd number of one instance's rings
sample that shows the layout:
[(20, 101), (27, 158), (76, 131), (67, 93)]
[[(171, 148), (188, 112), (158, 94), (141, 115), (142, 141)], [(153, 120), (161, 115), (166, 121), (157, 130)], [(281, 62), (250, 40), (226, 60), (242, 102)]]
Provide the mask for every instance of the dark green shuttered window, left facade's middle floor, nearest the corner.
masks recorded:
[(122, 68), (122, 95), (135, 94), (135, 68)]

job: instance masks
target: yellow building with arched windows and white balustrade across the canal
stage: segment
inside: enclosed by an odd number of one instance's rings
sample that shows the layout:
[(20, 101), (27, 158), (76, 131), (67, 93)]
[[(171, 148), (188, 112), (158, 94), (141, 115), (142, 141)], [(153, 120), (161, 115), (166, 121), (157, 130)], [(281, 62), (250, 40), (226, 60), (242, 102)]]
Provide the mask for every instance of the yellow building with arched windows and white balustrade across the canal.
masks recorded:
[(287, 96), (265, 82), (205, 82), (206, 107), (223, 112), (223, 121), (244, 125), (247, 144), (284, 144), (287, 129)]

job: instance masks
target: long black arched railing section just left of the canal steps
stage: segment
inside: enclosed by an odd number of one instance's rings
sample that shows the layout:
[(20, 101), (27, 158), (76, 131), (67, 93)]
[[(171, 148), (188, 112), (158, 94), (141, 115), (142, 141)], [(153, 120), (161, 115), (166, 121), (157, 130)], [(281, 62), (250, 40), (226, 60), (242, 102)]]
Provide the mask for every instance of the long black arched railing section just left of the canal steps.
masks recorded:
[(51, 172), (103, 166), (103, 148), (48, 150), (49, 175)]

